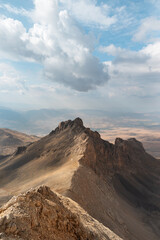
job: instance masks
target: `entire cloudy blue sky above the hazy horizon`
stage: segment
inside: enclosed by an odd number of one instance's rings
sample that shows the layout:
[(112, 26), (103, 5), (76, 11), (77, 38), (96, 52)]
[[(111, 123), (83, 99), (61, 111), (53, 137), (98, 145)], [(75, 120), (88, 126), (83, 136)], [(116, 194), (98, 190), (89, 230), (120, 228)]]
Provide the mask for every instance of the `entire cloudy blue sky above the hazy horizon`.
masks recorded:
[(160, 0), (0, 0), (0, 106), (159, 111)]

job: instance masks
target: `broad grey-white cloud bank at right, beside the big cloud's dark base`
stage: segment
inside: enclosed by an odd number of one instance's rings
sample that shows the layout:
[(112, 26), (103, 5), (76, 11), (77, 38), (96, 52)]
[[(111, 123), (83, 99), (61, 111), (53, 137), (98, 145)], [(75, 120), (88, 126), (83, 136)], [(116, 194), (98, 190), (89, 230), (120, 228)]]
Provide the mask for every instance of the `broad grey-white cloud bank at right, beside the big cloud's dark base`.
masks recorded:
[(108, 88), (114, 96), (156, 98), (160, 95), (160, 42), (139, 51), (114, 45), (100, 47), (100, 51), (114, 57), (105, 62), (111, 78)]

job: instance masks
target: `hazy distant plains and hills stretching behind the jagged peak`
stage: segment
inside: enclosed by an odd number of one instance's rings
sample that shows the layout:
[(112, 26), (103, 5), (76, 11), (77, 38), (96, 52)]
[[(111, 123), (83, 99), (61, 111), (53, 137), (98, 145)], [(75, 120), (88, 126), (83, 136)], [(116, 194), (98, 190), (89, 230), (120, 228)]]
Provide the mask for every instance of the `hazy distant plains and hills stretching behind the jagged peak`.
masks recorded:
[(114, 142), (116, 136), (136, 137), (146, 150), (160, 158), (160, 113), (117, 113), (102, 110), (40, 109), (14, 111), (0, 107), (0, 128), (44, 136), (63, 119), (80, 116), (86, 126)]

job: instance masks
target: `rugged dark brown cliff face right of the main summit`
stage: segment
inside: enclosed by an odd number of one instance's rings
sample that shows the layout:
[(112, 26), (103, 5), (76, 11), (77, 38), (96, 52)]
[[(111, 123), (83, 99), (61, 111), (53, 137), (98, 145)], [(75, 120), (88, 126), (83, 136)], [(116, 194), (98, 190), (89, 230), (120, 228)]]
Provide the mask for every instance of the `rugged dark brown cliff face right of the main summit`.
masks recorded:
[(141, 142), (135, 138), (116, 138), (111, 144), (100, 138), (97, 132), (85, 129), (87, 145), (81, 163), (89, 166), (99, 175), (117, 173), (138, 173), (151, 168), (159, 172), (159, 161), (147, 154)]

